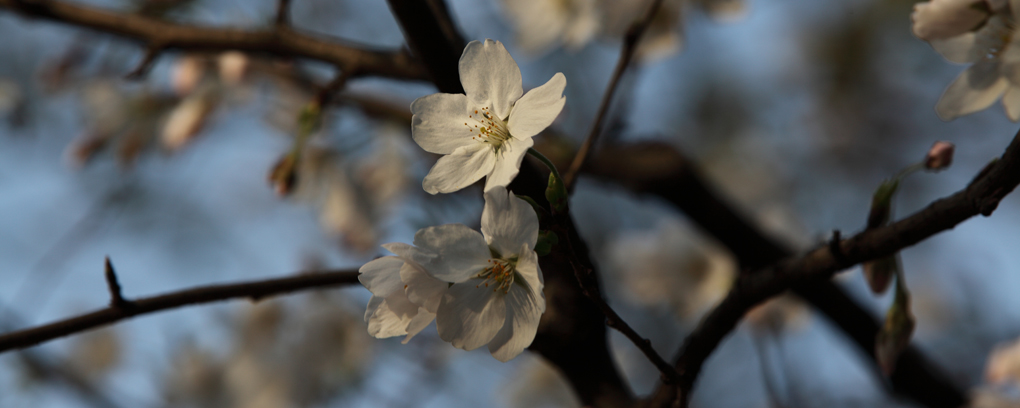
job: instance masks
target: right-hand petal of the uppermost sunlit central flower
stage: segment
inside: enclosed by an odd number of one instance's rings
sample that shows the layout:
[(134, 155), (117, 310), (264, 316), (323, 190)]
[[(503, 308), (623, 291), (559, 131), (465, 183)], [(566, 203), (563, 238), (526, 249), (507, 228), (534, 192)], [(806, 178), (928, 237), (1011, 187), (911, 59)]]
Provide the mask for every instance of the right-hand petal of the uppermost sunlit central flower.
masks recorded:
[(507, 122), (510, 135), (517, 139), (531, 138), (553, 124), (567, 101), (563, 96), (566, 86), (567, 78), (556, 72), (545, 85), (528, 91), (510, 111)]

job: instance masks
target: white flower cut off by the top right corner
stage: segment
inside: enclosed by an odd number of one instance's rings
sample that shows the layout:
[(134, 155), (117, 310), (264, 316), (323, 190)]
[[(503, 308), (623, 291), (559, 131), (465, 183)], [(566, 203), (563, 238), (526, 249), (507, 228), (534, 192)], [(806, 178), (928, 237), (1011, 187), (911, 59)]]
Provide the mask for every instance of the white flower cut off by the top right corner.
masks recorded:
[(1007, 9), (1014, 11), (992, 14), (976, 32), (929, 41), (946, 59), (973, 63), (939, 98), (935, 111), (942, 120), (982, 110), (1000, 97), (1007, 116), (1020, 120), (1020, 41), (1015, 41), (1020, 7)]

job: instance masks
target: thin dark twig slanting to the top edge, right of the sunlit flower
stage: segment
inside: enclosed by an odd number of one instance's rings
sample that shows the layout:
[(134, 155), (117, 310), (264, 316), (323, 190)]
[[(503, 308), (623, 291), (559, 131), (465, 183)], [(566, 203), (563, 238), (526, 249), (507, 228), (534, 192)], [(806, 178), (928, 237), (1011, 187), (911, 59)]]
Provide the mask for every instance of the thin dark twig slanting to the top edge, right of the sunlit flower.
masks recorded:
[(588, 161), (589, 152), (598, 141), (599, 134), (602, 133), (602, 126), (606, 121), (606, 113), (609, 111), (609, 105), (613, 102), (613, 95), (616, 94), (616, 88), (620, 83), (620, 79), (623, 78), (623, 72), (626, 71), (627, 65), (633, 59), (634, 51), (638, 50), (638, 43), (641, 41), (645, 31), (648, 30), (648, 27), (652, 24), (652, 19), (655, 18), (655, 14), (659, 11), (659, 6), (661, 5), (662, 0), (652, 0), (652, 4), (645, 11), (642, 18), (631, 26), (623, 36), (623, 48), (620, 50), (620, 59), (616, 62), (616, 68), (613, 69), (613, 76), (609, 80), (609, 88), (606, 89), (605, 95), (602, 96), (602, 104), (599, 105), (599, 111), (595, 115), (595, 122), (592, 123), (592, 130), (589, 132), (588, 138), (580, 145), (580, 149), (577, 149), (577, 154), (574, 155), (573, 161), (570, 162), (570, 168), (567, 169), (566, 176), (563, 178), (568, 192), (573, 191), (577, 173), (584, 166), (584, 162)]

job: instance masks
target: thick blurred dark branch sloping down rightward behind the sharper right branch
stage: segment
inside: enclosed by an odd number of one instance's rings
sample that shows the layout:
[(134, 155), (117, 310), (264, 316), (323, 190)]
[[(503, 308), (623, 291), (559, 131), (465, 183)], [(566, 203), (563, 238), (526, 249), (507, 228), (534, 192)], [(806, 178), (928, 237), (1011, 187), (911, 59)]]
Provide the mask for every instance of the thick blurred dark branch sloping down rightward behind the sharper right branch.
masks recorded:
[[(747, 220), (702, 177), (695, 163), (670, 145), (646, 142), (615, 145), (593, 157), (585, 172), (634, 192), (659, 196), (685, 212), (726, 246), (746, 273), (792, 256), (794, 251)], [(794, 293), (838, 326), (867, 356), (873, 356), (879, 323), (828, 279), (799, 284)], [(877, 370), (876, 370), (877, 372)], [(966, 395), (916, 348), (908, 347), (890, 375), (892, 391), (928, 407), (958, 407)], [(661, 387), (652, 406), (672, 401), (673, 389)]]

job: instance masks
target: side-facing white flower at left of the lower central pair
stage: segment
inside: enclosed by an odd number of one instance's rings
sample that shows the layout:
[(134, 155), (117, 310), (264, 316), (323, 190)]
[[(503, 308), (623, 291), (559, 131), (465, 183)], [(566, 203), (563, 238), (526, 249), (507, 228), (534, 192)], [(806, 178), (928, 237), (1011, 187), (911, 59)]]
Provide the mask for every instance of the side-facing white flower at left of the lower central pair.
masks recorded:
[(382, 247), (397, 256), (364, 264), (358, 276), (372, 293), (365, 310), (368, 334), (378, 339), (407, 335), (403, 341), (407, 343), (436, 318), (448, 285), (429, 276), (418, 264), (431, 255), (407, 244)]

